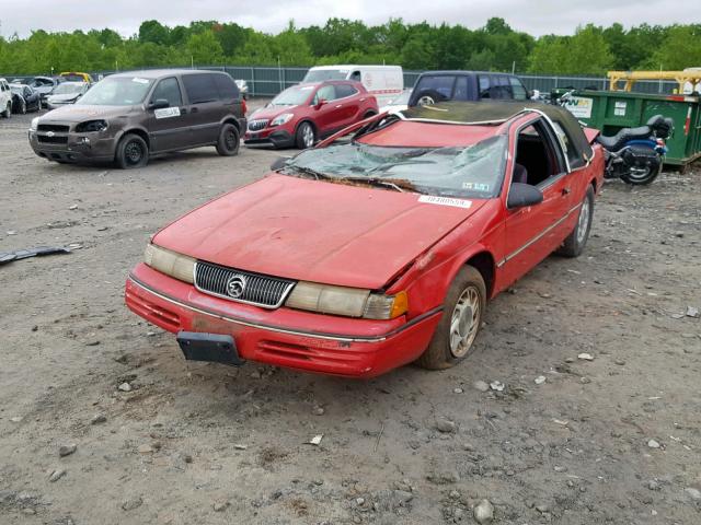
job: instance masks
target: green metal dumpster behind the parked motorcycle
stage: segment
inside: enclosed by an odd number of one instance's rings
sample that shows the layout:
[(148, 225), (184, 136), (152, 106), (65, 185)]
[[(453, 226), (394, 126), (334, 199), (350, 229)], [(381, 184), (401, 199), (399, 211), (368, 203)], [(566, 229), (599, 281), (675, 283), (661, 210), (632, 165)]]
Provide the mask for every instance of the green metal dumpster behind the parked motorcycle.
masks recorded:
[[(553, 100), (566, 90), (555, 90)], [(651, 95), (625, 91), (578, 90), (565, 107), (602, 135), (614, 135), (621, 128), (644, 126), (654, 115), (671, 117), (674, 135), (667, 139), (665, 164), (686, 166), (701, 156), (701, 107), (699, 96)]]

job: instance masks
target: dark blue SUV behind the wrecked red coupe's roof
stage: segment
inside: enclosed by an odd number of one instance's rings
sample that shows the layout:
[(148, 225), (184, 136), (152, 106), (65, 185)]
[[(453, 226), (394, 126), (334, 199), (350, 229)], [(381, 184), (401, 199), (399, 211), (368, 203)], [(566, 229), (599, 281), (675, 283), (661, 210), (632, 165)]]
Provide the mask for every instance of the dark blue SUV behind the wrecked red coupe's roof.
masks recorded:
[(409, 106), (445, 101), (526, 101), (528, 91), (513, 74), (485, 71), (426, 71), (412, 91)]

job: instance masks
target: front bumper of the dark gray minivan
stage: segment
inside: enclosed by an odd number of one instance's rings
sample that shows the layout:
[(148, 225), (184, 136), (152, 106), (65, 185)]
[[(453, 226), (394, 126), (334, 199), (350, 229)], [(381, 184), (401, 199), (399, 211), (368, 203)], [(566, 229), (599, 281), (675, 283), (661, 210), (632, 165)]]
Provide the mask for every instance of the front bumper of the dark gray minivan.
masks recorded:
[[(53, 142), (47, 142), (47, 140)], [(85, 139), (88, 139), (85, 141)], [(114, 160), (116, 139), (104, 132), (55, 133), (28, 131), (30, 145), (38, 156), (48, 161), (69, 163), (111, 162)]]

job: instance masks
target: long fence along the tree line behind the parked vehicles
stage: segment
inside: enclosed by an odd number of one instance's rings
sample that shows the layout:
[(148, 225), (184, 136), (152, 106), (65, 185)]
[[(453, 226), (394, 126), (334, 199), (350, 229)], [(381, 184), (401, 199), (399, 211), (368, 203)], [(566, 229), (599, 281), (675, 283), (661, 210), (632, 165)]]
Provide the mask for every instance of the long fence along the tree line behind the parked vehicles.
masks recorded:
[[(162, 68), (153, 68), (162, 69)], [(193, 69), (187, 67), (186, 69)], [(304, 78), (309, 68), (275, 68), (260, 66), (195, 66), (194, 69), (226, 71), (235, 80), (245, 80), (251, 96), (275, 96), (280, 91), (295, 85)], [(91, 73), (94, 79), (100, 79), (117, 71), (96, 71)], [(123, 71), (119, 71), (123, 72)], [(404, 86), (411, 88), (422, 71), (404, 71)], [(560, 77), (516, 73), (528, 90), (539, 90), (548, 93), (555, 88), (566, 89), (595, 89), (608, 90), (609, 81), (606, 77)], [(0, 75), (1, 77), (1, 75)], [(31, 79), (26, 75), (5, 75), (8, 80)], [(633, 85), (637, 93), (671, 94), (677, 88), (676, 82), (639, 80)]]

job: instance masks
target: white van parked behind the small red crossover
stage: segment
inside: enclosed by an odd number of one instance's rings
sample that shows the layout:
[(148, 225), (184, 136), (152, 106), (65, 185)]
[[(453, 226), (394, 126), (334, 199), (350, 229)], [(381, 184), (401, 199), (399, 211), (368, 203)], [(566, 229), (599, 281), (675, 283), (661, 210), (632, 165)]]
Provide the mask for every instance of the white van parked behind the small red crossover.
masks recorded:
[(317, 66), (307, 71), (302, 82), (356, 80), (377, 98), (378, 106), (389, 104), (404, 90), (401, 66)]

